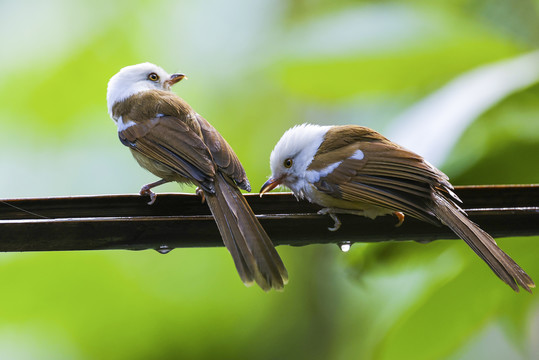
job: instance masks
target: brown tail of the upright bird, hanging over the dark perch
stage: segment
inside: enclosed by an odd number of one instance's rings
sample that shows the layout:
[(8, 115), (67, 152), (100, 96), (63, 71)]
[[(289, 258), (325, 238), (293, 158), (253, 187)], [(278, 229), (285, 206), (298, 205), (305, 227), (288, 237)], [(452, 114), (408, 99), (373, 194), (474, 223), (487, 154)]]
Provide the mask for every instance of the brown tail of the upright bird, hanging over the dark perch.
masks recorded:
[(215, 178), (215, 194), (205, 192), (223, 242), (245, 285), (253, 281), (264, 290), (282, 290), (288, 273), (268, 234), (236, 185), (221, 174)]

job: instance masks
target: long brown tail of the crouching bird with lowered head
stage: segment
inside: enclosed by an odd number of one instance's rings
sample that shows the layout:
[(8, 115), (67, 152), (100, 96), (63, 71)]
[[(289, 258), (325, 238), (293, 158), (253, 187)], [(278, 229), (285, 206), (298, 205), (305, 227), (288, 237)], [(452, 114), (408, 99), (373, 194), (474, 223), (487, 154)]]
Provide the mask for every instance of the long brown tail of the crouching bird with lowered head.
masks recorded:
[(438, 194), (433, 195), (433, 200), (432, 210), (436, 217), (460, 236), (500, 279), (516, 292), (519, 291), (519, 285), (531, 292), (530, 288), (535, 287), (533, 280), (498, 247), (492, 236), (468, 219), (466, 213), (452, 201)]

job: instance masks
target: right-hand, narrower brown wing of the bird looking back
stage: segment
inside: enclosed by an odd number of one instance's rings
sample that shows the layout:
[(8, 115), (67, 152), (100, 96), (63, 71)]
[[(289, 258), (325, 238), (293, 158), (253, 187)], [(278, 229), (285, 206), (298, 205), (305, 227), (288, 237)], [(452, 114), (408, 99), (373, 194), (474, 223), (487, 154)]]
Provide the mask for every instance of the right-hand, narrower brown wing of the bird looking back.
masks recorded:
[(245, 170), (232, 147), (202, 116), (196, 115), (204, 142), (208, 146), (217, 167), (243, 190), (251, 191)]

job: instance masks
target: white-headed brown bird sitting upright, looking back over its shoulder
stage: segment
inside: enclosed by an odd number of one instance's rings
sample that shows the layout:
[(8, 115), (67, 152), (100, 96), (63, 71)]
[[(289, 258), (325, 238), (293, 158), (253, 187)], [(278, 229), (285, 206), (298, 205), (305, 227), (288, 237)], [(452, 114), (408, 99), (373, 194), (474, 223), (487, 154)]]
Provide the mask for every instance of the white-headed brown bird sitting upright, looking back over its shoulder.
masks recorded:
[(197, 186), (217, 223), (241, 280), (264, 291), (282, 290), (288, 273), (240, 189), (251, 191), (245, 170), (219, 132), (171, 87), (185, 74), (152, 63), (122, 68), (109, 80), (107, 105), (118, 136), (135, 160), (160, 180), (144, 185), (152, 204), (155, 186)]

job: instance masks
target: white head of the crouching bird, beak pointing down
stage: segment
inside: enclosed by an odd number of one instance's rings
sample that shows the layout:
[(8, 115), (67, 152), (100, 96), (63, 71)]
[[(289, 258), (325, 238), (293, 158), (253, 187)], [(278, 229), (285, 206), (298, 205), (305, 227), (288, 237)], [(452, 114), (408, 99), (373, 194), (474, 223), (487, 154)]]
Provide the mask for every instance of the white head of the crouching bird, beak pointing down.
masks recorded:
[(279, 185), (301, 195), (305, 182), (309, 181), (307, 168), (329, 128), (302, 124), (287, 130), (271, 152), (271, 177), (260, 189), (260, 196)]

